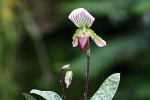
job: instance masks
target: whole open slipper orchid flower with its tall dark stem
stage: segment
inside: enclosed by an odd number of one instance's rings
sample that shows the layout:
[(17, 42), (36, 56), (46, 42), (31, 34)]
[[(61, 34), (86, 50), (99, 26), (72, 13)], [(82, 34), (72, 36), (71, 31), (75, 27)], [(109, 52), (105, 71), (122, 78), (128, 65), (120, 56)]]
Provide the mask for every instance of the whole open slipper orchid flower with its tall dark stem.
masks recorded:
[(71, 12), (68, 17), (77, 27), (75, 34), (73, 35), (73, 47), (79, 45), (81, 51), (87, 50), (87, 72), (86, 72), (86, 84), (85, 84), (85, 93), (84, 93), (84, 100), (87, 100), (88, 95), (88, 84), (89, 84), (89, 65), (90, 65), (90, 43), (89, 38), (91, 37), (92, 40), (99, 46), (103, 47), (106, 46), (106, 42), (96, 35), (90, 27), (92, 26), (95, 18), (88, 13), (83, 8), (75, 9)]

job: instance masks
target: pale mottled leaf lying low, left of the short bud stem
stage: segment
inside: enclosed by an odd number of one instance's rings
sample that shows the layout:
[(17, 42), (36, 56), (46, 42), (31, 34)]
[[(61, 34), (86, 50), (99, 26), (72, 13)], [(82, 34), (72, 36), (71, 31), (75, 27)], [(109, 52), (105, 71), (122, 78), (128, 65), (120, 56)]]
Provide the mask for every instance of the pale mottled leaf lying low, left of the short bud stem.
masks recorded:
[(33, 89), (30, 91), (30, 93), (40, 95), (46, 100), (62, 100), (62, 98), (53, 91), (40, 91), (40, 90)]

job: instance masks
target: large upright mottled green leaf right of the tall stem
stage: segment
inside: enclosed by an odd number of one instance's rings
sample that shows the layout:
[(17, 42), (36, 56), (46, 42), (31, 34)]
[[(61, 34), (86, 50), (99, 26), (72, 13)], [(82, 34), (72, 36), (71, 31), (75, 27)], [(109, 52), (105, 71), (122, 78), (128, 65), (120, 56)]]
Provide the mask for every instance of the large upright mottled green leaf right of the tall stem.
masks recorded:
[(90, 100), (112, 100), (120, 81), (120, 73), (109, 76)]

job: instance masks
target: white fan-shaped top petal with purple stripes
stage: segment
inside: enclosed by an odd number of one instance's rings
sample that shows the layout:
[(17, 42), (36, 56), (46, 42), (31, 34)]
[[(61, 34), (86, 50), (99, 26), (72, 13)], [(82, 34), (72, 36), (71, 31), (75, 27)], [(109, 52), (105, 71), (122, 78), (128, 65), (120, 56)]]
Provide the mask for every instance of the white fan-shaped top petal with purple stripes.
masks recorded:
[(68, 17), (77, 27), (91, 27), (95, 18), (84, 8), (78, 8)]

